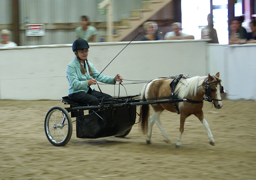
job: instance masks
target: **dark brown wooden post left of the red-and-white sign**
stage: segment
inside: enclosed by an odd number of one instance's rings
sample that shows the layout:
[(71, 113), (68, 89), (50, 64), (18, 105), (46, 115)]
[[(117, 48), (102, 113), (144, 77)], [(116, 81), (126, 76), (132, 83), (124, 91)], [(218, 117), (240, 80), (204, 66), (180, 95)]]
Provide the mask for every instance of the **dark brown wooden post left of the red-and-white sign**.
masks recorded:
[(19, 42), (19, 0), (12, 1), (12, 15), (13, 15), (13, 41), (17, 45)]

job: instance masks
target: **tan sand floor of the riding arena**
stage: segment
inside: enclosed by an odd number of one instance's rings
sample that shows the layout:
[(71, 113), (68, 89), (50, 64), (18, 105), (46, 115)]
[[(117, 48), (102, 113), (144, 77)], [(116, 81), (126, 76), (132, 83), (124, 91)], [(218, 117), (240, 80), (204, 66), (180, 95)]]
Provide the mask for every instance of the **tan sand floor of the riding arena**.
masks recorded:
[(176, 149), (179, 115), (168, 111), (161, 120), (171, 145), (156, 125), (147, 145), (138, 124), (125, 138), (92, 140), (78, 139), (73, 123), (71, 140), (57, 147), (47, 140), (44, 118), (49, 108), (67, 105), (0, 100), (0, 179), (256, 179), (256, 102), (223, 103), (220, 110), (204, 103), (215, 146), (191, 116)]

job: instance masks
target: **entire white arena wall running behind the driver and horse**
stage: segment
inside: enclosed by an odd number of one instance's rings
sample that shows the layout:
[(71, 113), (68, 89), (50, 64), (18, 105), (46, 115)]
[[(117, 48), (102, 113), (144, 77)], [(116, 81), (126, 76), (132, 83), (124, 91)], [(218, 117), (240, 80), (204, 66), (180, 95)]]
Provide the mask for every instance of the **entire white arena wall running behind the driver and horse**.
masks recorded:
[[(101, 72), (128, 43), (90, 43), (88, 60)], [(180, 73), (193, 77), (220, 72), (222, 85), (229, 91), (228, 98), (255, 100), (256, 85), (252, 79), (255, 77), (255, 47), (214, 45), (207, 44), (206, 40), (134, 41), (102, 74), (150, 81)], [(65, 72), (67, 64), (75, 57), (72, 44), (0, 48), (0, 57), (0, 99), (59, 100), (67, 95)], [(126, 83), (131, 82), (123, 82), (127, 94), (121, 86), (120, 96), (139, 94), (145, 84)], [(244, 89), (244, 85), (251, 87)], [(94, 87), (98, 89), (97, 85)], [(118, 85), (100, 84), (100, 89), (112, 96), (118, 95), (118, 88)]]

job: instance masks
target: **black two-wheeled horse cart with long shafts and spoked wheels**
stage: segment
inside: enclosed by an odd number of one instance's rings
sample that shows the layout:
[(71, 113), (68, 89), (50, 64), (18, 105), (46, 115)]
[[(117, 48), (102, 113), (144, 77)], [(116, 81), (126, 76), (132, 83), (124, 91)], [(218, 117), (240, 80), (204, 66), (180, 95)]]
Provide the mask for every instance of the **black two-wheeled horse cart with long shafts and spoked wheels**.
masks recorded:
[[(86, 106), (63, 97), (63, 104), (69, 107), (52, 107), (44, 120), (47, 139), (55, 146), (66, 145), (72, 136), (72, 119), (76, 117), (76, 135), (79, 138), (96, 139), (99, 137), (125, 137), (135, 124), (136, 109), (141, 104), (172, 103), (175, 99), (141, 102), (138, 95), (113, 98), (101, 102), (99, 106)], [(176, 100), (180, 102), (183, 100)], [(84, 110), (89, 114), (84, 115)], [(69, 115), (70, 113), (70, 115)]]

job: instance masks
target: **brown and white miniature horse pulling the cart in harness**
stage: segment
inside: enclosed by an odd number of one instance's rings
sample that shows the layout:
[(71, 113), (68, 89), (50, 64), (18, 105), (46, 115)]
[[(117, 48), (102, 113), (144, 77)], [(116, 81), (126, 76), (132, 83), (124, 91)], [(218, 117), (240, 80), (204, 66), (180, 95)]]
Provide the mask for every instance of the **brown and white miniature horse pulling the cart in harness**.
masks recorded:
[[(177, 139), (176, 148), (181, 146), (181, 135), (184, 131), (185, 119), (190, 115), (195, 115), (201, 123), (203, 123), (207, 130), (210, 145), (214, 145), (214, 139), (210, 127), (204, 118), (203, 114), (203, 101), (207, 100), (214, 104), (214, 107), (219, 109), (223, 106), (221, 99), (221, 79), (219, 79), (220, 73), (215, 76), (203, 76), (203, 77), (192, 77), (192, 78), (180, 78), (177, 83), (175, 90), (172, 91), (170, 83), (174, 81), (173, 78), (158, 78), (154, 79), (143, 87), (141, 92), (141, 101), (159, 100), (163, 97), (172, 98), (170, 95), (175, 95), (175, 98), (181, 99), (180, 102), (170, 102), (162, 104), (150, 104), (154, 110), (154, 114), (150, 117), (150, 123), (148, 128), (148, 116), (149, 116), (149, 105), (143, 104), (141, 106), (141, 114), (139, 119), (141, 120), (141, 128), (144, 133), (147, 132), (147, 144), (150, 144), (152, 127), (154, 123), (158, 125), (164, 136), (164, 141), (171, 144), (171, 141), (164, 132), (163, 127), (160, 123), (160, 114), (163, 110), (171, 112), (177, 112), (180, 114), (180, 134)], [(207, 98), (204, 98), (204, 95)]]

